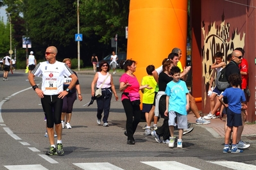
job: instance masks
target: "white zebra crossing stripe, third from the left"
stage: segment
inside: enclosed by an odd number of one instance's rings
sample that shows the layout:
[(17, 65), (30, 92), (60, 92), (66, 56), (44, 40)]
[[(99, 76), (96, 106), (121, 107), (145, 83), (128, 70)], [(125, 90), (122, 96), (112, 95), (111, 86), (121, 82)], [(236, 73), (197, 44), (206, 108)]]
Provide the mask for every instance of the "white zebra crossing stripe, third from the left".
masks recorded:
[(192, 166), (187, 166), (185, 164), (181, 164), (180, 162), (176, 161), (151, 161), (151, 162), (141, 162), (148, 166), (155, 167), (157, 169), (166, 170), (166, 169), (175, 169), (175, 170), (199, 170)]

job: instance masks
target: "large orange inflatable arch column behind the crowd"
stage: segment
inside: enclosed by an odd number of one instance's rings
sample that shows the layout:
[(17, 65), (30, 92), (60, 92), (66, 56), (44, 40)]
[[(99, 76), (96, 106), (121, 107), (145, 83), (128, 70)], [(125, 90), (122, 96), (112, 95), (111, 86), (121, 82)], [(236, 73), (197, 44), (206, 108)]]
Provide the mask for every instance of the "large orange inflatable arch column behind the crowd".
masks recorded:
[[(146, 67), (158, 68), (175, 47), (186, 61), (187, 0), (131, 0), (127, 59), (137, 61), (135, 75), (141, 83)], [(142, 97), (142, 95), (141, 95)]]

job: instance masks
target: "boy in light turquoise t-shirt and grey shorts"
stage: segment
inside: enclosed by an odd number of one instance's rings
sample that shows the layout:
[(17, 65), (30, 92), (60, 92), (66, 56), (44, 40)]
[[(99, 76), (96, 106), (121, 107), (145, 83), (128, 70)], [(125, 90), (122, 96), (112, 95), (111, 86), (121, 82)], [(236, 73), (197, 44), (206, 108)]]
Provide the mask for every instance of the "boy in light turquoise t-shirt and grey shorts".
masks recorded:
[(189, 90), (186, 83), (180, 80), (180, 68), (178, 66), (171, 68), (171, 77), (173, 77), (173, 81), (169, 82), (166, 87), (166, 111), (164, 112), (165, 116), (169, 114), (168, 123), (171, 134), (169, 148), (174, 147), (174, 127), (176, 126), (176, 121), (178, 124), (177, 148), (182, 148), (183, 129), (187, 128)]

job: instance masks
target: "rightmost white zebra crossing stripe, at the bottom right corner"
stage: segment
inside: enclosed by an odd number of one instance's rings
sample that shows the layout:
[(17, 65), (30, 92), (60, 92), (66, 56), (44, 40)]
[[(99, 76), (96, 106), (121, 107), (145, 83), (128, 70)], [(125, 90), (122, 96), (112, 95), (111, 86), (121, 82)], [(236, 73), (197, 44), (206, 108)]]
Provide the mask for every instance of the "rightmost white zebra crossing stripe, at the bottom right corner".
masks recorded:
[[(210, 161), (208, 161), (210, 162)], [(254, 170), (256, 169), (256, 166), (252, 165), (252, 164), (244, 164), (241, 162), (234, 162), (234, 161), (214, 161), (214, 162), (210, 162), (212, 164), (217, 164), (219, 166), (225, 166), (228, 167), (230, 169), (246, 169), (246, 170)]]

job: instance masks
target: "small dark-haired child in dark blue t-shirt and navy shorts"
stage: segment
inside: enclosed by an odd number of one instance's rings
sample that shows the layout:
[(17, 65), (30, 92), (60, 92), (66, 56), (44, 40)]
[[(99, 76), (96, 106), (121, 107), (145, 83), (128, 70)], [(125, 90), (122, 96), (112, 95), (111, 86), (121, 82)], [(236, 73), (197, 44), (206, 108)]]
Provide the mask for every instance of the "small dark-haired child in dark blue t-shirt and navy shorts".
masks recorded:
[[(237, 148), (237, 130), (238, 127), (243, 125), (241, 118), (241, 109), (246, 109), (246, 98), (244, 96), (244, 91), (239, 87), (241, 84), (241, 75), (237, 73), (232, 73), (228, 76), (228, 81), (230, 82), (231, 88), (225, 89), (225, 91), (219, 96), (219, 102), (226, 107), (226, 133), (225, 133), (225, 146), (223, 148), (223, 153), (241, 153), (243, 150)], [(228, 104), (223, 102), (223, 97), (226, 97)], [(232, 148), (228, 146), (229, 137), (232, 134)]]

